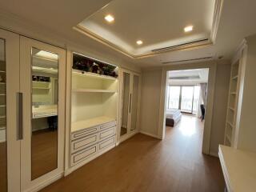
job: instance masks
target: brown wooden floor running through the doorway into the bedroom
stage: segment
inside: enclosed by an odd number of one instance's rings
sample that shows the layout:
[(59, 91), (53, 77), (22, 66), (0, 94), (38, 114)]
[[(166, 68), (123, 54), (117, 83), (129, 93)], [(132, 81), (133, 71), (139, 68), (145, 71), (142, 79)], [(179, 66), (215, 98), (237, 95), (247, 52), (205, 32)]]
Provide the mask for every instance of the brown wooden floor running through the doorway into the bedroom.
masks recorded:
[(201, 149), (202, 123), (183, 116), (163, 141), (137, 134), (42, 191), (224, 191), (218, 158)]

